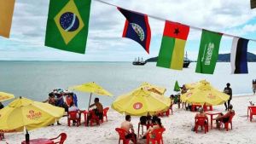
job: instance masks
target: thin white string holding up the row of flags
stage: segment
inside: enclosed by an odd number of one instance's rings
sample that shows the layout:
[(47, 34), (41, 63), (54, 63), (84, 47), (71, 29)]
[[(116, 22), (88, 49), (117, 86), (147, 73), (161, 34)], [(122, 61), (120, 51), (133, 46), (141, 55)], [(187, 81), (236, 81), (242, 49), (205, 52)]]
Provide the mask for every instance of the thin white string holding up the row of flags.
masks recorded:
[[(94, 1), (99, 2), (99, 3), (104, 3), (104, 4), (107, 4), (107, 5), (113, 6), (113, 7), (121, 8), (121, 7), (117, 6), (117, 5), (114, 5), (112, 3), (107, 3), (107, 2), (104, 2), (102, 0), (94, 0)], [(121, 9), (124, 9), (124, 8), (121, 8)], [(130, 9), (127, 9), (127, 10), (130, 10)], [(132, 10), (130, 10), (130, 11), (132, 11)], [(138, 13), (138, 12), (136, 12), (136, 13)], [(143, 14), (143, 13), (139, 13), (139, 14)], [(150, 15), (150, 14), (147, 14), (147, 15), (148, 15), (148, 17), (150, 17), (152, 19), (155, 19), (155, 20), (166, 21), (166, 19), (154, 16), (154, 15)], [(168, 21), (176, 22), (176, 21), (172, 21), (172, 20), (168, 20)], [(186, 25), (186, 24), (183, 24), (183, 25)], [(187, 25), (187, 26), (189, 26), (189, 25)], [(197, 27), (197, 26), (189, 26), (189, 27), (194, 29), (194, 30), (198, 30), (198, 31), (207, 30), (207, 29), (203, 29), (203, 28), (200, 28), (200, 27)], [(207, 31), (211, 31), (211, 30), (207, 30)], [(215, 31), (211, 31), (211, 32), (215, 32)], [(226, 36), (226, 37), (237, 37), (237, 36), (226, 34), (226, 33), (223, 33), (223, 32), (216, 32), (216, 33), (221, 33), (223, 36)], [(256, 42), (256, 39), (248, 39), (248, 40)]]

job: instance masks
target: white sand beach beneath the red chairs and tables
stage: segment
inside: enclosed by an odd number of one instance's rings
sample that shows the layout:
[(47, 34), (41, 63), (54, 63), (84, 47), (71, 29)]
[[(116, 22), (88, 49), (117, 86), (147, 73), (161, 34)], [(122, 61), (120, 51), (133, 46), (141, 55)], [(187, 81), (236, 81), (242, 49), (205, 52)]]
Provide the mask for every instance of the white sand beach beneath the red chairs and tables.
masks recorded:
[[(253, 118), (253, 122), (247, 119), (247, 106), (249, 101), (256, 101), (255, 95), (243, 95), (233, 97), (231, 101), (236, 115), (233, 118), (233, 130), (218, 130), (214, 129), (215, 123), (213, 122), (213, 130), (209, 127), (209, 132), (205, 134), (201, 129), (196, 134), (191, 131), (192, 126), (195, 124), (195, 113), (189, 112), (183, 109), (177, 109), (177, 105), (173, 107), (173, 115), (169, 117), (161, 118), (163, 125), (166, 128), (166, 132), (163, 135), (164, 143), (241, 143), (241, 144), (253, 144), (256, 143), (256, 116)], [(223, 112), (224, 105), (213, 107), (214, 111)], [(120, 126), (120, 123), (124, 121), (125, 115), (121, 115), (118, 112), (110, 110), (108, 112), (108, 122), (104, 122), (100, 126), (84, 127), (84, 124), (79, 127), (67, 126), (67, 117), (61, 118), (61, 126), (49, 126), (46, 128), (30, 131), (31, 139), (34, 138), (53, 138), (59, 135), (61, 132), (67, 133), (67, 144), (116, 144), (119, 141), (119, 135), (114, 130)], [(82, 120), (82, 123), (84, 120)], [(137, 132), (138, 117), (132, 117), (133, 123)], [(25, 135), (23, 133), (6, 134), (5, 140), (0, 143), (20, 144), (24, 141)], [(139, 140), (139, 143), (145, 143), (143, 140)]]

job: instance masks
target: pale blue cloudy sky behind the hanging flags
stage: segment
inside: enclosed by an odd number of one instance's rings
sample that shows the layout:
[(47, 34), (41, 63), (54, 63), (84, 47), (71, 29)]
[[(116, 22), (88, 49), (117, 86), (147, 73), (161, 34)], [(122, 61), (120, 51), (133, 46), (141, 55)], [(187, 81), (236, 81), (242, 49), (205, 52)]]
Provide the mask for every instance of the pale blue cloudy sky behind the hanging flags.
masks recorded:
[[(102, 0), (121, 8), (204, 28), (256, 39), (256, 9), (249, 0)], [(164, 20), (148, 18), (151, 26), (150, 54), (131, 39), (121, 37), (125, 17), (116, 7), (92, 0), (89, 34), (84, 55), (44, 46), (49, 0), (16, 0), (10, 38), (0, 37), (0, 60), (132, 61), (157, 56)], [(230, 53), (233, 37), (222, 37), (219, 54)], [(190, 29), (185, 51), (196, 60), (201, 31)], [(256, 54), (256, 42), (248, 52)]]

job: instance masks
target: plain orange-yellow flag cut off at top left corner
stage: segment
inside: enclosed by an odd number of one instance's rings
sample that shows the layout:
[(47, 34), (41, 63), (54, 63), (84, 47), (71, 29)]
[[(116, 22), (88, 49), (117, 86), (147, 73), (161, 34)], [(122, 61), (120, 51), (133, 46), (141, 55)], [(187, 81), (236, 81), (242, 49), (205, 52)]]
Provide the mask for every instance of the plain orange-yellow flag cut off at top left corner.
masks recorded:
[(0, 36), (9, 37), (15, 0), (0, 0)]

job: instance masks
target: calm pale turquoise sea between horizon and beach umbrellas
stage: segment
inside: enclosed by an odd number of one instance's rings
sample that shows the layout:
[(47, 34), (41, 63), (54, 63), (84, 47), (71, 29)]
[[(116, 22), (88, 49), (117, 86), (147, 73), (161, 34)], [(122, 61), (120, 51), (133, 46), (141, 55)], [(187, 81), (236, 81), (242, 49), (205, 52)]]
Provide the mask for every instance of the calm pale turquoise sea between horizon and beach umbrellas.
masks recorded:
[[(248, 63), (249, 73), (241, 75), (230, 74), (230, 63), (218, 63), (213, 75), (195, 73), (195, 65), (191, 63), (189, 68), (175, 71), (156, 67), (155, 63), (133, 66), (131, 62), (0, 61), (0, 91), (44, 101), (52, 89), (96, 82), (113, 93), (113, 97), (99, 97), (109, 106), (117, 96), (143, 82), (166, 87), (166, 95), (171, 95), (176, 94), (172, 91), (176, 80), (181, 86), (207, 79), (217, 89), (223, 90), (229, 82), (235, 95), (252, 94), (256, 63)], [(79, 107), (87, 107), (90, 94), (76, 93)]]

